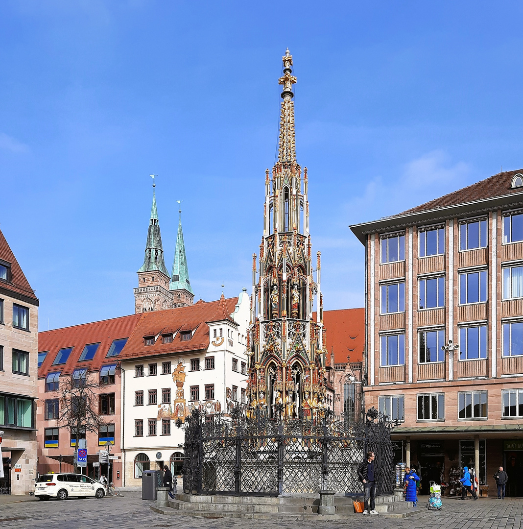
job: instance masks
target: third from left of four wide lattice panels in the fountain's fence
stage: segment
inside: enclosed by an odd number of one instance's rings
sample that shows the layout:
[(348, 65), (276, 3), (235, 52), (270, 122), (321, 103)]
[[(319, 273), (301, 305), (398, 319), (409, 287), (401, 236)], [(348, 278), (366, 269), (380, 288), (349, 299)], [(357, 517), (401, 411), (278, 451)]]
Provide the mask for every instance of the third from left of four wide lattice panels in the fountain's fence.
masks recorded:
[(287, 437), (283, 494), (316, 494), (322, 486), (322, 443), (318, 437)]

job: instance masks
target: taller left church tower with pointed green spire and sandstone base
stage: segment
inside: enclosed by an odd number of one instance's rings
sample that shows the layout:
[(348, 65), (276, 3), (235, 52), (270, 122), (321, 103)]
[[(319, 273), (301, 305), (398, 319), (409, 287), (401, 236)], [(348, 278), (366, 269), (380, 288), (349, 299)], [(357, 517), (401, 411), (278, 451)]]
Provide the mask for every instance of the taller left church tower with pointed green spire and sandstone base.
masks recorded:
[(153, 181), (151, 220), (145, 244), (143, 265), (138, 270), (138, 288), (134, 289), (135, 313), (162, 311), (171, 308), (172, 294), (169, 291), (169, 272), (163, 260), (162, 236), (158, 223), (156, 196)]

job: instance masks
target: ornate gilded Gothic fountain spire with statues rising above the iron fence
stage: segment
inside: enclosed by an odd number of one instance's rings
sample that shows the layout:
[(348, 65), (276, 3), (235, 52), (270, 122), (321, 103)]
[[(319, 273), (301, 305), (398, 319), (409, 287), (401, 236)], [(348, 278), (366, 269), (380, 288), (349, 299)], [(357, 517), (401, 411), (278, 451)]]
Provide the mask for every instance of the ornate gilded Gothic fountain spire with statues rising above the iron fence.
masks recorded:
[[(320, 253), (313, 279), (307, 168), (296, 162), (292, 56), (283, 56), (278, 161), (265, 174), (263, 237), (256, 263), (249, 329), (250, 414), (283, 413), (317, 420), (325, 414), (325, 329)], [(318, 298), (313, 319), (314, 298)], [(277, 405), (280, 406), (277, 406)], [(280, 408), (281, 409), (281, 408)]]

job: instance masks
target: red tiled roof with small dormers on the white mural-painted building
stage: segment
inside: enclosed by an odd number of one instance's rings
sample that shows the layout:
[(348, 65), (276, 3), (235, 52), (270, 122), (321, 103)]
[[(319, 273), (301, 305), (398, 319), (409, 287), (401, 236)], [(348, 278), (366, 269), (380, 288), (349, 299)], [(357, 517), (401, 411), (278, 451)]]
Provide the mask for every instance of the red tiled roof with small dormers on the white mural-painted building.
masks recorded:
[[(225, 299), (222, 295), (217, 301), (195, 303), (187, 307), (170, 308), (167, 311), (145, 312), (118, 360), (205, 350), (209, 346), (209, 326), (206, 322), (216, 321), (213, 317), (218, 309), (221, 313), (219, 321), (233, 321), (231, 314), (237, 303), (237, 297)], [(170, 329), (192, 330), (192, 338), (181, 341), (178, 332), (172, 342), (163, 343), (161, 334)], [(154, 336), (156, 338), (154, 344), (145, 345), (144, 336)]]

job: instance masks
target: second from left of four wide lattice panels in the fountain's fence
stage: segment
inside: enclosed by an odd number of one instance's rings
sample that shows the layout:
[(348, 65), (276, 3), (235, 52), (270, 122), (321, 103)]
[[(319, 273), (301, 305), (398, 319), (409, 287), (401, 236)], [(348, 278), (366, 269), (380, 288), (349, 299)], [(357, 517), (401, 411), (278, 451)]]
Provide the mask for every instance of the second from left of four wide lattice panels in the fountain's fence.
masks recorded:
[(274, 437), (244, 439), (240, 491), (278, 494), (278, 442)]

